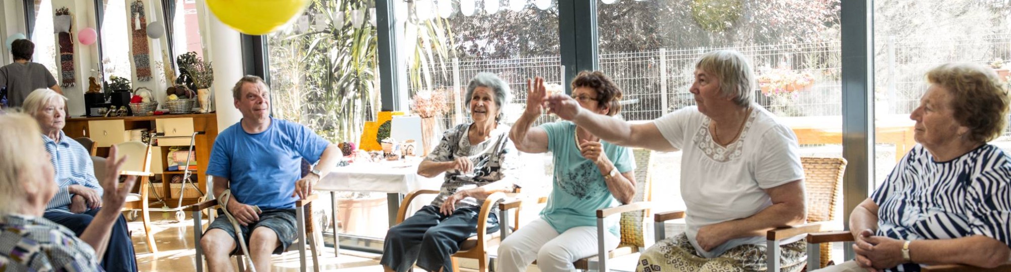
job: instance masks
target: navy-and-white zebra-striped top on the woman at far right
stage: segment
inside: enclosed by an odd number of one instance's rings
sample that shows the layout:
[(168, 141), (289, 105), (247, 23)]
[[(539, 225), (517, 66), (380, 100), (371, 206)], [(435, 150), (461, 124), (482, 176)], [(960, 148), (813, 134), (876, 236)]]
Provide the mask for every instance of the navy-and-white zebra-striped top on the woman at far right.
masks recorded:
[[(1011, 164), (997, 146), (935, 162), (916, 145), (870, 197), (880, 207), (878, 236), (912, 241), (982, 235), (1011, 246)], [(920, 265), (887, 271), (920, 271)]]

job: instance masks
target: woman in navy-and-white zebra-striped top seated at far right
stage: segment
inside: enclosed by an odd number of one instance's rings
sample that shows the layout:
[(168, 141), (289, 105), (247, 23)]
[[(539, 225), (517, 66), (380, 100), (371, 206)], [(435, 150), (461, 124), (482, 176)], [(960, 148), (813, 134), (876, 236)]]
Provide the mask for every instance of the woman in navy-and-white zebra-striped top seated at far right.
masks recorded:
[(992, 70), (946, 63), (910, 116), (919, 143), (850, 215), (856, 260), (827, 271), (996, 267), (1011, 257), (1011, 164), (987, 144), (1007, 124), (1008, 95)]

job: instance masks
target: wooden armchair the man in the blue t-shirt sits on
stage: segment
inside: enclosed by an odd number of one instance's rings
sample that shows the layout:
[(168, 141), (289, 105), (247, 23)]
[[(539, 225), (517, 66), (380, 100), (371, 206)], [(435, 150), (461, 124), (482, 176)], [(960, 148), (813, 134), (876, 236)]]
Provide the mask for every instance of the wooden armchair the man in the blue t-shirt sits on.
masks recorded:
[[(301, 176), (305, 177), (305, 175), (308, 174), (309, 169), (311, 169), (311, 165), (309, 165), (308, 161), (302, 159), (301, 168)], [(210, 182), (207, 187), (214, 187), (213, 179), (208, 178), (207, 181)], [(203, 211), (207, 209), (211, 209), (213, 211), (220, 208), (217, 199), (213, 198), (216, 197), (216, 195), (213, 195), (213, 191), (208, 193), (207, 197), (210, 198), (210, 200), (193, 205), (189, 209), (189, 211), (193, 213), (193, 244), (196, 245), (195, 260), (197, 272), (203, 271), (203, 249), (200, 248), (200, 238), (203, 237)], [(323, 229), (319, 228), (319, 226), (316, 226), (316, 221), (312, 216), (312, 201), (318, 197), (318, 194), (312, 193), (305, 199), (298, 199), (295, 201), (295, 227), (298, 229), (298, 235), (295, 238), (295, 241), (292, 242), (288, 248), (284, 249), (285, 252), (292, 251), (294, 249), (298, 250), (298, 265), (299, 271), (301, 272), (305, 272), (308, 269), (308, 265), (305, 261), (306, 242), (309, 245), (309, 252), (312, 254), (312, 271), (319, 272), (320, 269), (319, 255), (323, 254), (323, 251), (319, 250), (319, 247), (323, 246)], [(210, 215), (213, 215), (213, 213)], [(213, 221), (215, 219), (211, 217), (209, 220)], [(306, 222), (309, 224), (305, 224)], [(337, 239), (334, 241), (337, 241)], [(239, 245), (236, 245), (236, 247), (239, 247)], [(337, 246), (335, 245), (335, 249), (336, 248)], [(244, 253), (242, 250), (237, 250), (236, 254), (233, 255), (238, 259), (239, 271), (246, 271), (246, 268), (244, 267), (246, 264), (243, 260), (243, 255)]]

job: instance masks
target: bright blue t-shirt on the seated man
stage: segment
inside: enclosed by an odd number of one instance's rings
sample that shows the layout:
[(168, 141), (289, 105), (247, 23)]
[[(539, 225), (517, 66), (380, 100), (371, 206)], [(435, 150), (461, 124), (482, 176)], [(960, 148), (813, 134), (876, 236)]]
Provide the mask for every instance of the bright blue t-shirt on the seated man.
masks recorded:
[(271, 118), (266, 131), (250, 134), (242, 122), (214, 139), (207, 174), (229, 179), (236, 200), (261, 210), (294, 209), (295, 181), (301, 178), (302, 158), (309, 163), (330, 142), (305, 126)]

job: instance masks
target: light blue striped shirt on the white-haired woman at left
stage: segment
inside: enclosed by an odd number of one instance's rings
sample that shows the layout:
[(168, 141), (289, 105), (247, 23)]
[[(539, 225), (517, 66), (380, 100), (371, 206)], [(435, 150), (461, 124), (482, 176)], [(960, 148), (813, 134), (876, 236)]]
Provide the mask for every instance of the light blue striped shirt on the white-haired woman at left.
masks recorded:
[(70, 185), (84, 185), (94, 189), (99, 197), (102, 196), (102, 186), (98, 183), (98, 178), (95, 178), (95, 167), (88, 150), (74, 139), (67, 137), (63, 131), (60, 132), (60, 139), (57, 143), (49, 136), (42, 135), (45, 151), (50, 152), (50, 161), (56, 170), (55, 181), (60, 187), (45, 206), (45, 212), (70, 213), (70, 198), (73, 196), (68, 191)]

